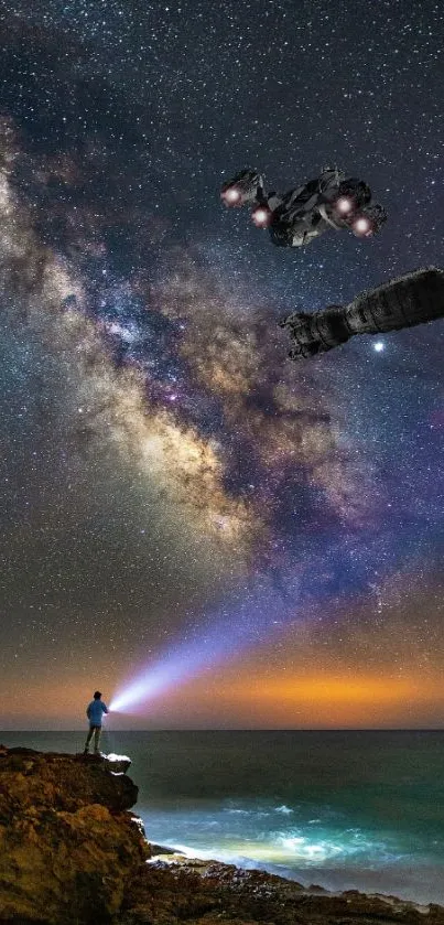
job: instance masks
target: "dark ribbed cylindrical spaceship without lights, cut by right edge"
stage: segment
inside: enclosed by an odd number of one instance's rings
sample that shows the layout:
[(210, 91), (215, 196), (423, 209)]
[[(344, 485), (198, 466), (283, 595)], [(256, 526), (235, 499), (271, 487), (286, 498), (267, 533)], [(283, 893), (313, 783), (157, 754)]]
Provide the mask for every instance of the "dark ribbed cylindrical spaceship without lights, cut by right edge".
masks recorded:
[(444, 270), (429, 267), (361, 292), (349, 305), (293, 312), (280, 322), (294, 346), (292, 359), (316, 356), (355, 334), (381, 334), (444, 318)]

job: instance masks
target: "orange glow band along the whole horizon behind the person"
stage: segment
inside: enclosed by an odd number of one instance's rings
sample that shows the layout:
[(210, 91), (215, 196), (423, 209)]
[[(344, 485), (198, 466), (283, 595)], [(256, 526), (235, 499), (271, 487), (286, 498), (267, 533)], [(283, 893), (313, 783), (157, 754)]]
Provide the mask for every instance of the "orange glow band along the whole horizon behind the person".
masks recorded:
[[(106, 702), (113, 695), (107, 671), (97, 671)], [(8, 725), (17, 729), (86, 729), (86, 704), (97, 685), (85, 676), (61, 686), (45, 677), (9, 691)], [(6, 691), (3, 692), (6, 696)], [(12, 696), (11, 696), (12, 695)], [(339, 674), (313, 665), (280, 675), (258, 671), (252, 660), (204, 673), (141, 704), (137, 716), (110, 714), (112, 729), (394, 729), (436, 728), (444, 714), (444, 689), (436, 673), (392, 676)], [(436, 718), (434, 725), (430, 717)]]

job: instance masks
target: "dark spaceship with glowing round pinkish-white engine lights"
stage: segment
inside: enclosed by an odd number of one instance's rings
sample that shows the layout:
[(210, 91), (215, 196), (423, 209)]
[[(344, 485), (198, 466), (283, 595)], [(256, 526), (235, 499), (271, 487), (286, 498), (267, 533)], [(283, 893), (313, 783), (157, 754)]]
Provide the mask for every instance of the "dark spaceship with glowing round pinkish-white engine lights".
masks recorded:
[(255, 225), (268, 228), (279, 247), (305, 247), (332, 228), (370, 237), (387, 221), (386, 209), (372, 202), (367, 183), (337, 168), (325, 168), (315, 180), (283, 194), (267, 193), (256, 170), (242, 170), (224, 183), (220, 197), (229, 207), (252, 206)]

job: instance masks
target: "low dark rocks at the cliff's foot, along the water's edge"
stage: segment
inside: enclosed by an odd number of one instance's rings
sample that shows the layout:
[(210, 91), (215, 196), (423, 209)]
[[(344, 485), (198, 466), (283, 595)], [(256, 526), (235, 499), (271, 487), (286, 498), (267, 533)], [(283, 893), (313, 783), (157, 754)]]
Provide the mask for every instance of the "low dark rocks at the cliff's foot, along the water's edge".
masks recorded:
[(129, 884), (119, 925), (444, 925), (444, 908), (340, 895), (214, 861), (155, 862)]

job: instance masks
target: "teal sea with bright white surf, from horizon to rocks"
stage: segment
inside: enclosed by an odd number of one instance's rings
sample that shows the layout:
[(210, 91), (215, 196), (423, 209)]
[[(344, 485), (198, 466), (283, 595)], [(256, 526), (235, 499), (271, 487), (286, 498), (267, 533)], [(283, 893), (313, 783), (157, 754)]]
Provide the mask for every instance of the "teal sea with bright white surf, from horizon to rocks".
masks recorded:
[[(83, 732), (0, 732), (82, 751)], [(329, 890), (444, 904), (444, 730), (117, 732), (150, 841)]]

